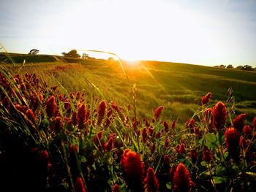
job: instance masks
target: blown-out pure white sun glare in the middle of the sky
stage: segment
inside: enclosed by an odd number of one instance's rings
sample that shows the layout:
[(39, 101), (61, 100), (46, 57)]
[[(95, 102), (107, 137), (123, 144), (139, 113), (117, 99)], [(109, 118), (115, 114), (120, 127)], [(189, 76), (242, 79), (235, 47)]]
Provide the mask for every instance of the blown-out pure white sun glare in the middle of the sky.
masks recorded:
[(105, 50), (129, 61), (209, 64), (229, 50), (227, 40), (203, 28), (207, 22), (197, 12), (165, 1), (85, 1), (54, 21), (59, 28), (45, 22), (45, 34), (56, 37), (48, 47)]

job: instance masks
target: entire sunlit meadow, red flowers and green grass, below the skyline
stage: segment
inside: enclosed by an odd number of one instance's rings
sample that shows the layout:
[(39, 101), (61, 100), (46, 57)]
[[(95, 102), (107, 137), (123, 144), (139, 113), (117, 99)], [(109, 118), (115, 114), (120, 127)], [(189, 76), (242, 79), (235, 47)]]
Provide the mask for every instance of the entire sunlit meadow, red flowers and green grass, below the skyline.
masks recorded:
[(255, 188), (255, 72), (39, 56), (1, 61), (0, 191)]

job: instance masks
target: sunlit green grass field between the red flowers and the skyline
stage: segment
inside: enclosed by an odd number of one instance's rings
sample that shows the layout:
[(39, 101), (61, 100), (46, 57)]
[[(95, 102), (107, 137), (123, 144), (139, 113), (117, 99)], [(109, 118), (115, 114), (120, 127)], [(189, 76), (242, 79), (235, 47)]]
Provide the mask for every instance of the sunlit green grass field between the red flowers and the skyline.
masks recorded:
[[(36, 73), (50, 86), (61, 83), (67, 91), (94, 91), (94, 95), (99, 96), (99, 92), (88, 84), (89, 81), (99, 88), (108, 101), (116, 101), (124, 108), (128, 104), (133, 106), (132, 87), (136, 83), (135, 98), (140, 118), (151, 118), (154, 109), (164, 105), (165, 118), (184, 123), (199, 109), (202, 96), (211, 92), (211, 104), (214, 105), (217, 100), (227, 100), (225, 94), (230, 87), (233, 88), (235, 111), (239, 114), (246, 112), (249, 120), (256, 116), (256, 72), (140, 61), (137, 64), (123, 62), (126, 76), (117, 61), (63, 61), (61, 57), (49, 55), (30, 58), (24, 55), (11, 56), (18, 63), (16, 67), (7, 64), (14, 74)], [(20, 62), (24, 58), (26, 64), (20, 69)], [(44, 59), (50, 62), (43, 62)]]

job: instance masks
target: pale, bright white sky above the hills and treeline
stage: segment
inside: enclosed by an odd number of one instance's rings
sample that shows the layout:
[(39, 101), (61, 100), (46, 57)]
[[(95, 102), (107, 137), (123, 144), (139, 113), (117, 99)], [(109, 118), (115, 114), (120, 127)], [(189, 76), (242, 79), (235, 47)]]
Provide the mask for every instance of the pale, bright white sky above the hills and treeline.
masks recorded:
[(256, 1), (0, 0), (0, 43), (10, 53), (102, 50), (128, 60), (256, 67)]

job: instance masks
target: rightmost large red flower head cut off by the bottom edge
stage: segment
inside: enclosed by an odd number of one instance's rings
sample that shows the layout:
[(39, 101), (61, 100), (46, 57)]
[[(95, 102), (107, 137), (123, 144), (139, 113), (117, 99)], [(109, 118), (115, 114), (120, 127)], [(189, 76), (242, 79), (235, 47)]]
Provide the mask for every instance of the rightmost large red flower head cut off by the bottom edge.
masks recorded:
[(192, 181), (184, 164), (178, 164), (173, 176), (173, 191), (191, 191)]

